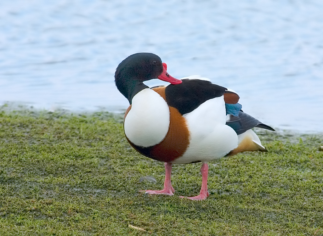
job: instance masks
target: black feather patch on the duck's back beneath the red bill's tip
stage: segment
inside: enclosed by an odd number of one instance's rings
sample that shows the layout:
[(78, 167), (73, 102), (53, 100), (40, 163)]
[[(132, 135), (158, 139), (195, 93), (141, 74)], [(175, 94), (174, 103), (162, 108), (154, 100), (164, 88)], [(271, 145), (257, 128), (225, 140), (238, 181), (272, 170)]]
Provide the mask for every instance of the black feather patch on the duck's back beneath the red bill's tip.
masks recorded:
[(183, 79), (181, 84), (168, 85), (165, 88), (168, 106), (177, 108), (183, 115), (198, 108), (203, 102), (221, 97), (225, 87), (201, 79)]

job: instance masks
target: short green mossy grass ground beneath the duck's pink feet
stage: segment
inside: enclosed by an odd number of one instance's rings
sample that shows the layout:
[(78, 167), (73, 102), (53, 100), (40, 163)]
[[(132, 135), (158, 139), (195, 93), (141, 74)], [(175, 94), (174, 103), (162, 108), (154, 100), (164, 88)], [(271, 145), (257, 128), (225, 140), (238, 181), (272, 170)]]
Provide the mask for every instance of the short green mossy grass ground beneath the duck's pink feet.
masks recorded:
[(118, 117), (2, 110), (0, 235), (323, 235), (322, 135), (258, 134), (269, 152), (209, 163), (210, 197), (191, 201), (199, 163), (174, 165), (172, 197), (139, 192), (163, 164)]

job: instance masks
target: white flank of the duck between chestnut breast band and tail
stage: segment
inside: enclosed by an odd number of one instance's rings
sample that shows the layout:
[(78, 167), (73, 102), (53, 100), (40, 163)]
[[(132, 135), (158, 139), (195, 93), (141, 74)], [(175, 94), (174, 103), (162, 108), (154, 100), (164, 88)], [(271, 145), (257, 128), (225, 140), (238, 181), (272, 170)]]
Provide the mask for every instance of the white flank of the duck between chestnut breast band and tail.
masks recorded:
[(209, 99), (183, 116), (190, 130), (190, 145), (173, 163), (220, 159), (238, 146), (237, 134), (225, 125), (223, 96)]

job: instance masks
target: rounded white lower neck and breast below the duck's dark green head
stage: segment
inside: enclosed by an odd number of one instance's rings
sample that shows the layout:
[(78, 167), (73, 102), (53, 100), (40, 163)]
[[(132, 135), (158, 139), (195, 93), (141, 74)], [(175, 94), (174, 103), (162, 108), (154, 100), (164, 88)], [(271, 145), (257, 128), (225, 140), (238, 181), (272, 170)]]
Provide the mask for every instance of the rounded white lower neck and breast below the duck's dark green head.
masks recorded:
[(145, 88), (132, 98), (124, 120), (124, 132), (135, 145), (151, 147), (160, 143), (169, 128), (170, 112), (166, 101), (155, 91)]

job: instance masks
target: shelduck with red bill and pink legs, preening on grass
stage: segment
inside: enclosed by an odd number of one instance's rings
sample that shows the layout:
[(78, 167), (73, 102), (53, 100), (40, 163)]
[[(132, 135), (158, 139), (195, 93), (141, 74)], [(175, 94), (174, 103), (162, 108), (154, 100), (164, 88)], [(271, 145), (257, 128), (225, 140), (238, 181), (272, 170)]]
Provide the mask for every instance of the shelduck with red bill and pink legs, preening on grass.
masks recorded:
[[(233, 90), (192, 77), (179, 80), (166, 69), (152, 53), (133, 54), (117, 67), (116, 86), (130, 103), (124, 133), (139, 153), (165, 162), (164, 189), (145, 193), (173, 195), (172, 163), (202, 162), (200, 194), (187, 198), (204, 200), (209, 196), (207, 162), (243, 151), (267, 151), (251, 128), (274, 129), (244, 113)], [(155, 78), (171, 84), (143, 84)]]

